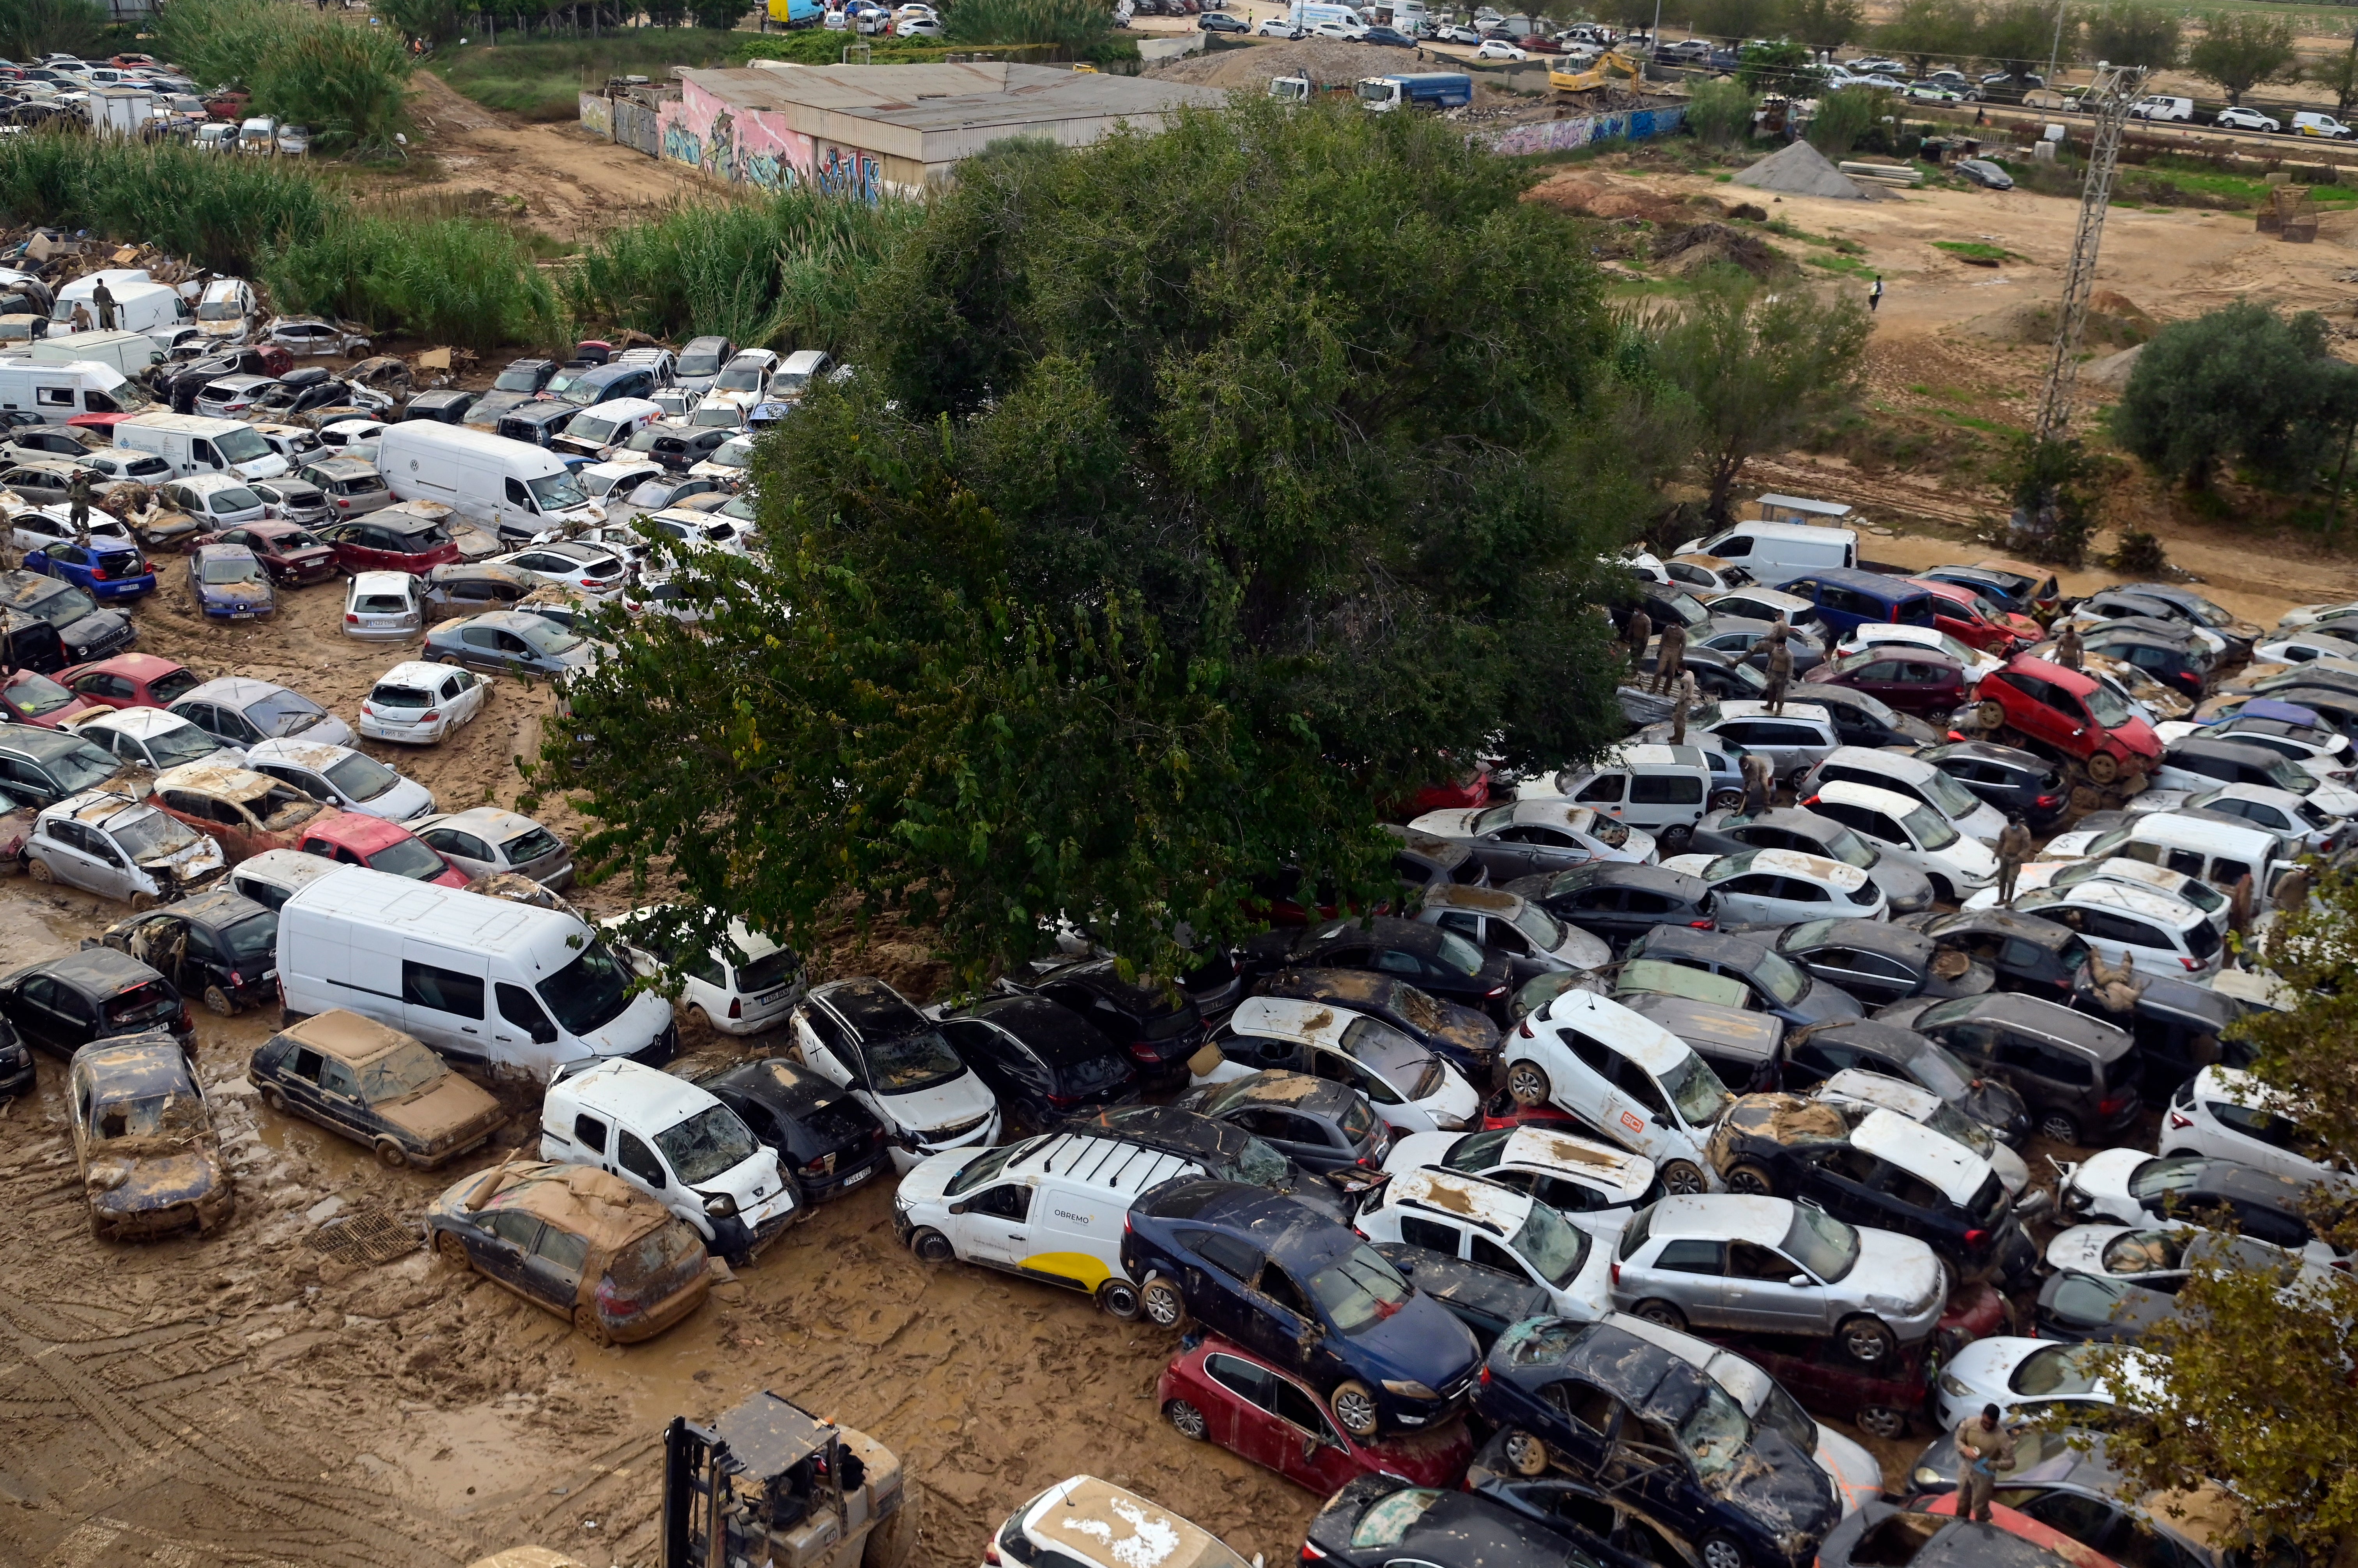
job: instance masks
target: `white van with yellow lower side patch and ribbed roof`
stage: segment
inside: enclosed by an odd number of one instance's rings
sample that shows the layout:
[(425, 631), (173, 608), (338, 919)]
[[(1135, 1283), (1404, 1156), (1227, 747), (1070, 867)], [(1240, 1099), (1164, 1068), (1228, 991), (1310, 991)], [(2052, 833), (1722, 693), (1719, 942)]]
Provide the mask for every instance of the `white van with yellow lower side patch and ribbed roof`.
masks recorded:
[(1160, 1181), (1200, 1174), (1174, 1153), (1078, 1132), (950, 1148), (901, 1179), (894, 1236), (929, 1264), (988, 1264), (1085, 1290), (1115, 1318), (1137, 1318), (1141, 1280), (1122, 1271), (1129, 1205)]

